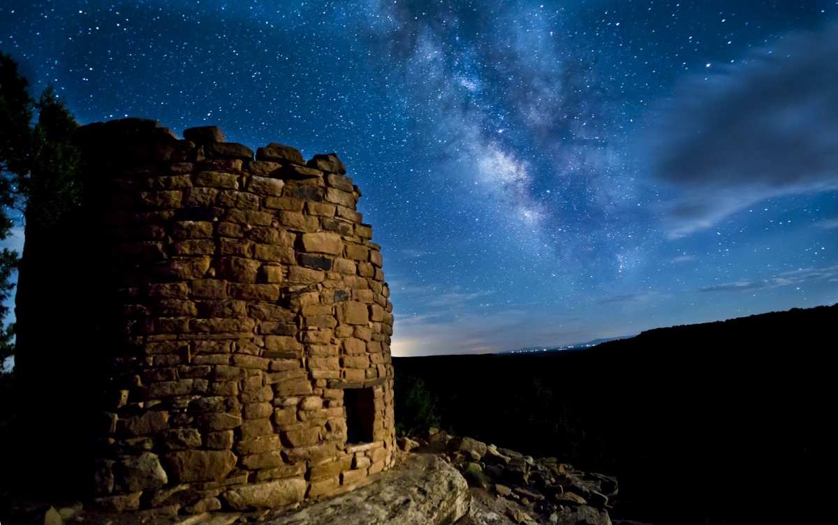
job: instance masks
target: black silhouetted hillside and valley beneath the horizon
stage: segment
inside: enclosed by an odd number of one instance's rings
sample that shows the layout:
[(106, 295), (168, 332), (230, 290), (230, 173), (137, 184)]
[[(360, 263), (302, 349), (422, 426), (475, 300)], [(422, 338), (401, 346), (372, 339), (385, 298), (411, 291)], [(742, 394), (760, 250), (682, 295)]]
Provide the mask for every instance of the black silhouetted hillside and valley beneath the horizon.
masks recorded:
[(613, 474), (616, 518), (820, 522), (835, 513), (835, 327), (838, 305), (572, 353), (396, 358), (396, 419)]

